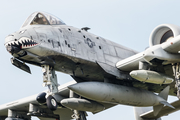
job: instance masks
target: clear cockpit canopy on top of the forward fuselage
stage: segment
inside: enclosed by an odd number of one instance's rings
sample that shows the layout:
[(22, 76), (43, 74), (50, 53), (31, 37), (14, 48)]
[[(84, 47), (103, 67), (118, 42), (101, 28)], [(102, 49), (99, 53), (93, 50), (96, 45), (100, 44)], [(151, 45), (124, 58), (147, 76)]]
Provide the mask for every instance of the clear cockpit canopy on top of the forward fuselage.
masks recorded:
[(34, 12), (27, 18), (22, 27), (27, 25), (65, 25), (65, 23), (48, 13)]

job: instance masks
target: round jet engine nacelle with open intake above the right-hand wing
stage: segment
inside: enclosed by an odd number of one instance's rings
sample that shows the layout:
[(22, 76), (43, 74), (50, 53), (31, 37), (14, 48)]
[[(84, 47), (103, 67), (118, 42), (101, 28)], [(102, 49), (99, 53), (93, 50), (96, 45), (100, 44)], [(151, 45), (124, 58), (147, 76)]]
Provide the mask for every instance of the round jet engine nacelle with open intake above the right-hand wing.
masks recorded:
[(157, 26), (149, 37), (149, 46), (166, 42), (180, 35), (180, 27), (172, 24), (161, 24)]

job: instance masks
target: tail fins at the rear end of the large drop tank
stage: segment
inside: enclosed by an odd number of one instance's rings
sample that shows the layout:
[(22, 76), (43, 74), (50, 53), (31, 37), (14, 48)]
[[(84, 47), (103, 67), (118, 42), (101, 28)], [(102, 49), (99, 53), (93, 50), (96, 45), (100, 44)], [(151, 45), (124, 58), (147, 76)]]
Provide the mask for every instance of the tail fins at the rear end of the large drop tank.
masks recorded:
[(164, 105), (175, 109), (171, 104), (167, 102), (169, 88), (170, 86), (167, 86), (163, 91), (159, 93), (159, 97), (163, 98), (164, 100), (160, 102), (161, 103), (160, 105), (153, 106), (154, 116), (157, 116), (157, 114), (161, 111)]

